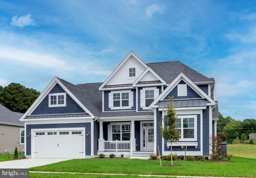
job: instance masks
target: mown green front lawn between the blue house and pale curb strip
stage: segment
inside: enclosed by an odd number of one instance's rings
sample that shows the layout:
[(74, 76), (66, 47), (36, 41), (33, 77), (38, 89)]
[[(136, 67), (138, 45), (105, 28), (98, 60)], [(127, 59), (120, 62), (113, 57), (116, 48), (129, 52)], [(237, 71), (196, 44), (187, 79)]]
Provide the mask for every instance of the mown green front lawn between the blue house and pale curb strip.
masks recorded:
[(162, 161), (162, 167), (156, 160), (138, 159), (76, 159), (58, 162), (46, 166), (30, 168), (30, 171), (50, 172), (88, 172), (115, 174), (150, 174), (174, 176), (224, 176), (256, 177), (255, 159), (233, 156), (230, 162), (174, 161), (180, 166), (164, 166), (170, 161)]

